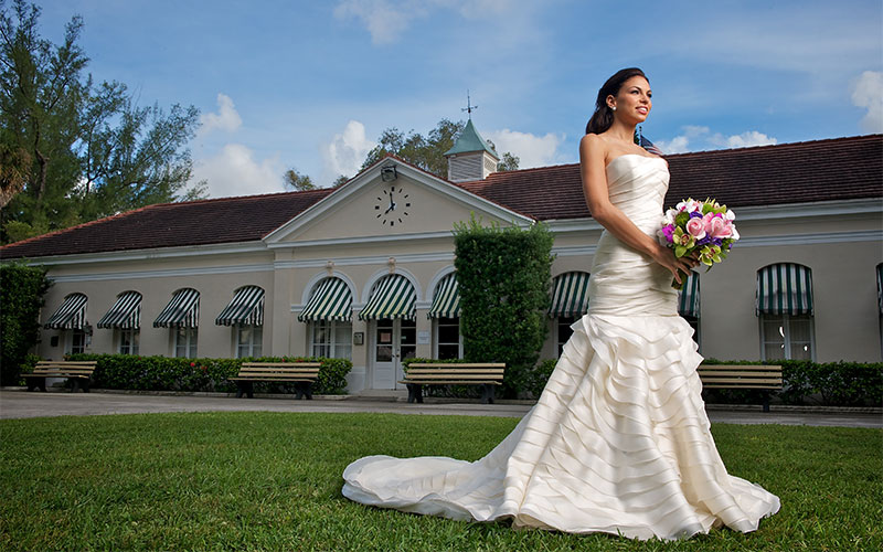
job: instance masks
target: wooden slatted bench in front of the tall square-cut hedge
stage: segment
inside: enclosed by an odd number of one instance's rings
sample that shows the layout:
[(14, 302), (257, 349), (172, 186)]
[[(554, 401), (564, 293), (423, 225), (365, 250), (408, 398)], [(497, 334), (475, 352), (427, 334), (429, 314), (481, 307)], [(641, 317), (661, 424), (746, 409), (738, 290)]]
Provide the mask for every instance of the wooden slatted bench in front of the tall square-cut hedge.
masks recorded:
[(417, 363), (407, 367), (405, 379), (398, 383), (407, 385), (407, 402), (423, 402), (424, 385), (481, 385), (481, 402), (493, 403), (493, 393), (497, 385), (502, 385), (502, 363)]

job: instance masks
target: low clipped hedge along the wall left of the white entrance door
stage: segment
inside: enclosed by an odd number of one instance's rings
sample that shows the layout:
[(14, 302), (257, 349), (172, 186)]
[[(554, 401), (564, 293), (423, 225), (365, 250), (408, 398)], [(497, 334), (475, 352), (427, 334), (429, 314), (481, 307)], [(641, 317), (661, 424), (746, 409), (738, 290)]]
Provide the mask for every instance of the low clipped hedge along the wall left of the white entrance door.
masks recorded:
[[(313, 393), (339, 395), (347, 390), (352, 362), (345, 359), (262, 357), (257, 359), (181, 359), (131, 354), (71, 354), (68, 360), (98, 361), (92, 386), (97, 389), (149, 391), (217, 391), (232, 393), (236, 384), (227, 381), (240, 372), (243, 362), (321, 362)], [(259, 382), (255, 391), (294, 393), (294, 384)]]

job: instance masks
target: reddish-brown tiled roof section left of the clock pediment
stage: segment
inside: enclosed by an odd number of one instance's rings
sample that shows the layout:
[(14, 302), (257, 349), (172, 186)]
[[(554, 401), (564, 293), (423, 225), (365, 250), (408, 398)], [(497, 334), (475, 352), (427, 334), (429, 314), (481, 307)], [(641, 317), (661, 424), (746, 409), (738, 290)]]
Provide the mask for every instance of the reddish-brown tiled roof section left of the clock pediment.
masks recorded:
[(320, 189), (149, 205), (7, 245), (0, 250), (0, 257), (252, 242), (332, 191)]

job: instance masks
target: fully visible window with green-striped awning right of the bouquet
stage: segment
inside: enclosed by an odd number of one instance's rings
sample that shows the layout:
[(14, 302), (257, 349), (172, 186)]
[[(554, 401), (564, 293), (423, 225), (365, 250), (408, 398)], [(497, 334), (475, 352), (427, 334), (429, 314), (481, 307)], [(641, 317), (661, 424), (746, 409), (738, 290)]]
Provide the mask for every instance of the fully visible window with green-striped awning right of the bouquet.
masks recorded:
[(796, 263), (757, 270), (762, 360), (813, 360), (812, 272)]

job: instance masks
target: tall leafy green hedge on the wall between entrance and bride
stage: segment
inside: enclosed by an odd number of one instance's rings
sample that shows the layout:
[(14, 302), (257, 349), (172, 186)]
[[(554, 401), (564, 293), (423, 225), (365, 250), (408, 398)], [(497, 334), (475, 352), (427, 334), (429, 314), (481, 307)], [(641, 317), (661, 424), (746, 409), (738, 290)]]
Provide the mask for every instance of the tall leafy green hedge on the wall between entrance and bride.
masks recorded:
[(472, 217), (454, 227), (464, 355), (506, 362), (507, 397), (523, 388), (545, 341), (553, 240), (541, 223), (521, 230)]

